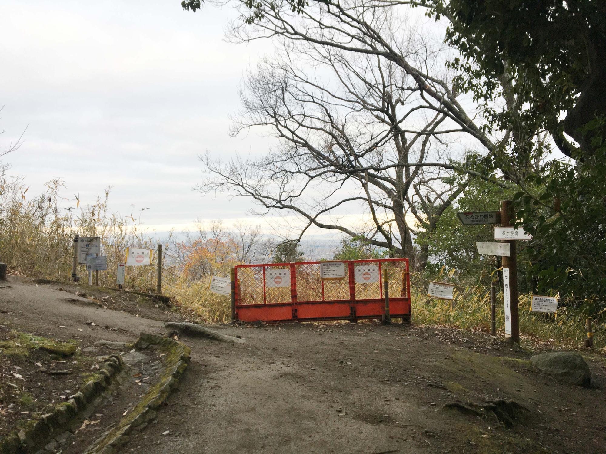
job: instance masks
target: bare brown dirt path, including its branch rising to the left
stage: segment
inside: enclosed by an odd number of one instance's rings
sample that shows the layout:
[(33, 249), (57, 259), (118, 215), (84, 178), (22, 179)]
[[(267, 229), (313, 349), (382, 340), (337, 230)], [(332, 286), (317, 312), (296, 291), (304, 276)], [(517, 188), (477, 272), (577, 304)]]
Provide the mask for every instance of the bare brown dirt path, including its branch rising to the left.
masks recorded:
[[(52, 287), (9, 285), (0, 324), (86, 340), (162, 331), (158, 321), (64, 301), (72, 295)], [(182, 337), (192, 352), (179, 390), (122, 452), (605, 452), (602, 390), (554, 383), (524, 361), (531, 351), (488, 335), (362, 323), (216, 329), (245, 343)], [(604, 357), (587, 360), (603, 385)], [(528, 417), (505, 429), (441, 409), (469, 400), (515, 400)]]

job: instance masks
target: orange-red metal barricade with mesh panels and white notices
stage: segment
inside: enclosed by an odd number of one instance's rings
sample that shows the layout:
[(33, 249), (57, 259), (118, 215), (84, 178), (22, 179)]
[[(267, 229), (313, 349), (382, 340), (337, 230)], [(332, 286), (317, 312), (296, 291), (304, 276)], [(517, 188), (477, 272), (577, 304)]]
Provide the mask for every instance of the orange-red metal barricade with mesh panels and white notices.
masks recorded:
[(408, 258), (238, 265), (233, 318), (240, 321), (381, 318), (385, 313), (384, 270), (391, 318), (410, 319)]

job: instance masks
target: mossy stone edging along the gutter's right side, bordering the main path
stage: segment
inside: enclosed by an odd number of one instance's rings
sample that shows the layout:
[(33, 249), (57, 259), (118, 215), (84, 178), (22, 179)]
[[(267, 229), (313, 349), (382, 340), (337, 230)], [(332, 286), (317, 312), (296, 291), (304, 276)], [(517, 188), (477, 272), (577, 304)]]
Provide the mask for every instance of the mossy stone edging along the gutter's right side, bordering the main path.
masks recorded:
[(141, 430), (156, 417), (156, 410), (166, 401), (178, 384), (179, 377), (187, 369), (190, 348), (170, 338), (141, 333), (136, 349), (159, 349), (166, 354), (160, 370), (160, 378), (141, 398), (135, 408), (124, 416), (118, 426), (104, 433), (85, 454), (112, 454), (128, 441), (133, 430)]

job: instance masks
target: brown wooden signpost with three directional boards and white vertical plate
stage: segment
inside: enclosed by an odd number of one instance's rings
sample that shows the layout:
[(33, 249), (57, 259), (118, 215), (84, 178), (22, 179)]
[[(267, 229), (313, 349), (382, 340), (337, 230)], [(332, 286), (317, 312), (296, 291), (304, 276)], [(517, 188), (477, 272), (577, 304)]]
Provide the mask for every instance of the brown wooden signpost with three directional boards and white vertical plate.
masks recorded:
[(512, 224), (511, 200), (501, 201), (500, 211), (478, 211), (458, 213), (463, 225), (500, 224), (494, 228), (494, 239), (501, 243), (476, 242), (478, 252), (486, 255), (500, 255), (503, 264), (503, 295), (505, 310), (505, 336), (513, 344), (520, 343), (519, 298), (518, 298), (518, 257), (516, 241), (531, 240), (531, 235)]

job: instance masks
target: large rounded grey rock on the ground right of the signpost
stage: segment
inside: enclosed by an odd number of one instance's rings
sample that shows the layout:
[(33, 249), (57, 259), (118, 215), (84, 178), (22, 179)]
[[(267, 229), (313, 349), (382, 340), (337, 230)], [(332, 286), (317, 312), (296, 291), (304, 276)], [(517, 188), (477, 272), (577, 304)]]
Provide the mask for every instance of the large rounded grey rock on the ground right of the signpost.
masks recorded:
[(530, 361), (541, 372), (548, 373), (558, 380), (585, 387), (591, 384), (589, 366), (578, 353), (548, 352), (534, 355)]

